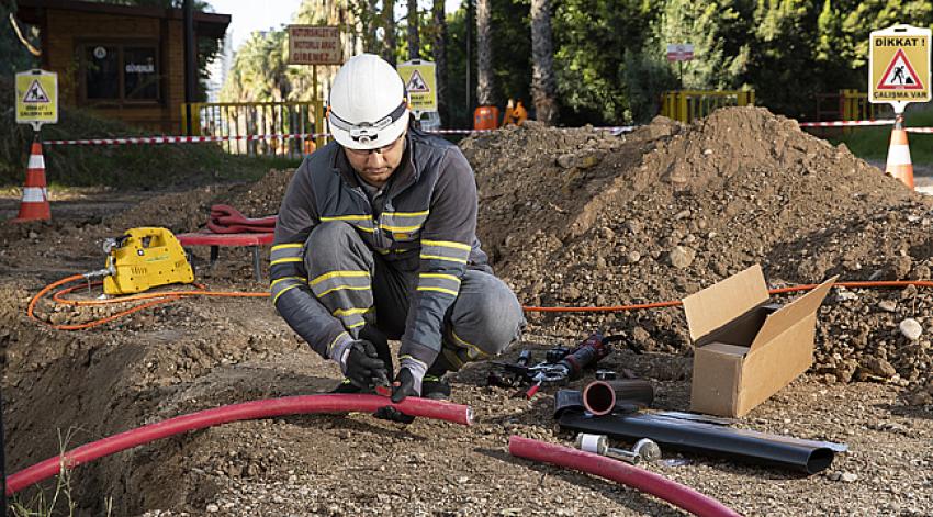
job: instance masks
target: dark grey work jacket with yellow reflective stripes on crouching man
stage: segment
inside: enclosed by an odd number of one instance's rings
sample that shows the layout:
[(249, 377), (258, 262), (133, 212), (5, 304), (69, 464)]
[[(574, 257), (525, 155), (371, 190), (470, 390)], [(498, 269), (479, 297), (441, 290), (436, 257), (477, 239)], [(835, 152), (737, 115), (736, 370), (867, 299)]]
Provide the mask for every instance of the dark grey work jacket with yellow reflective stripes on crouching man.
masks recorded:
[(305, 158), (282, 200), (272, 246), (271, 294), (276, 308), (311, 347), (328, 358), (346, 334), (308, 284), (297, 260), (311, 231), (328, 221), (352, 225), (363, 241), (392, 266), (418, 271), (400, 357), (430, 366), (441, 344), (445, 313), (468, 267), (486, 269), (476, 238), (476, 182), (456, 145), (411, 128), (406, 149), (373, 215), (342, 148), (331, 142)]

